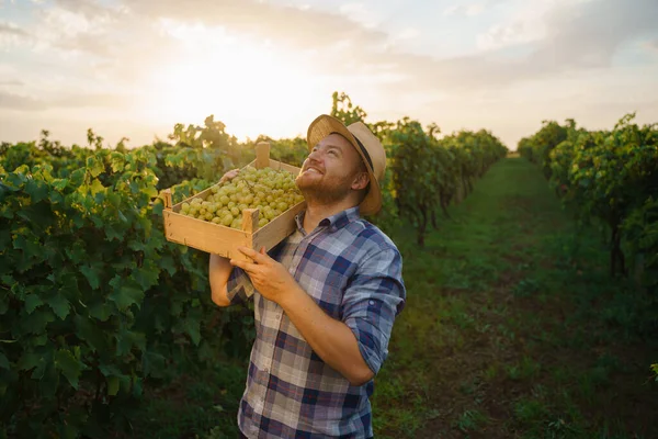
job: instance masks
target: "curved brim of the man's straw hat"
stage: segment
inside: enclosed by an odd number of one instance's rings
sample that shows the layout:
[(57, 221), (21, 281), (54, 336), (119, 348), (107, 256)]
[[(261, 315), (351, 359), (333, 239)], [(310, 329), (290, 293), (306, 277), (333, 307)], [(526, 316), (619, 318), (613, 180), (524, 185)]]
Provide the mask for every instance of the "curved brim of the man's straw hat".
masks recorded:
[(359, 204), (360, 213), (362, 215), (376, 214), (382, 209), (382, 188), (379, 187), (379, 182), (375, 178), (373, 168), (367, 162), (367, 159), (361, 150), (361, 147), (359, 147), (356, 138), (340, 120), (328, 114), (322, 114), (316, 117), (315, 121), (313, 121), (310, 125), (308, 125), (308, 133), (306, 135), (308, 150), (310, 151), (322, 138), (333, 133), (342, 135), (352, 144), (354, 150), (356, 150), (356, 153), (359, 153), (359, 155), (361, 156), (361, 159), (365, 165), (365, 169), (367, 170), (367, 175), (370, 178), (370, 189), (361, 204)]

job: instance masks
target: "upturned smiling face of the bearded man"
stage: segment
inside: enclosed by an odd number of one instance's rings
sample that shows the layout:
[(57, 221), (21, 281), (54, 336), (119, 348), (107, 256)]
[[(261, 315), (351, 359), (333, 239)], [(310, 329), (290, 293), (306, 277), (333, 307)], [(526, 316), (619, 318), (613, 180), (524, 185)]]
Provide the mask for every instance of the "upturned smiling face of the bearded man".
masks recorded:
[[(361, 156), (352, 144), (339, 134), (330, 134), (304, 160), (296, 183), (307, 200), (331, 203), (360, 189), (355, 180), (361, 172)], [(363, 179), (367, 182), (367, 175)]]

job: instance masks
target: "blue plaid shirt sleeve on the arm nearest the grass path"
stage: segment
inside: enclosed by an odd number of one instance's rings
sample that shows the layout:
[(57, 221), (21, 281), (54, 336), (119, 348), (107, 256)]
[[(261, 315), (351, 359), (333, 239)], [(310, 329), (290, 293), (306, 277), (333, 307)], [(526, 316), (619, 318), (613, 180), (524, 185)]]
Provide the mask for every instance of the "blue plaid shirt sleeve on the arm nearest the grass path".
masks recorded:
[(402, 258), (395, 247), (366, 257), (343, 295), (342, 320), (356, 337), (359, 350), (375, 374), (388, 356), (393, 323), (405, 301)]

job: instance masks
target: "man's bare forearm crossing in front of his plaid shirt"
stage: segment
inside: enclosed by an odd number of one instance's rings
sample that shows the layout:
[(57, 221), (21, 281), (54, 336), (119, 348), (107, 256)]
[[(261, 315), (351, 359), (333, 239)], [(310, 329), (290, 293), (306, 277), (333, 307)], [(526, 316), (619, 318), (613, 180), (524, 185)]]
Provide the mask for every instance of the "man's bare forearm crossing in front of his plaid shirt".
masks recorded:
[(352, 330), (327, 315), (299, 285), (280, 305), (313, 350), (352, 385), (373, 378)]

